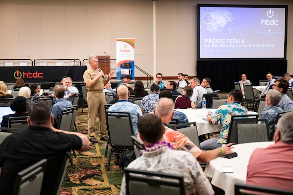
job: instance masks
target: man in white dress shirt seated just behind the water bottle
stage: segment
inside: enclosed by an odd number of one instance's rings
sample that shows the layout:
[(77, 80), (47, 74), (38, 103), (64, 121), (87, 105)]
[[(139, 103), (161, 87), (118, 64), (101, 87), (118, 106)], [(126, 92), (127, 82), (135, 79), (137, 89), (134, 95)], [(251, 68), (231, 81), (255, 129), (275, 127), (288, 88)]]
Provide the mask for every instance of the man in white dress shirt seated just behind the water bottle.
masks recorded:
[(207, 90), (200, 85), (200, 80), (197, 77), (194, 77), (190, 81), (190, 87), (193, 89), (193, 93), (190, 97), (190, 100), (196, 104), (196, 108), (202, 106), (203, 95), (207, 93)]

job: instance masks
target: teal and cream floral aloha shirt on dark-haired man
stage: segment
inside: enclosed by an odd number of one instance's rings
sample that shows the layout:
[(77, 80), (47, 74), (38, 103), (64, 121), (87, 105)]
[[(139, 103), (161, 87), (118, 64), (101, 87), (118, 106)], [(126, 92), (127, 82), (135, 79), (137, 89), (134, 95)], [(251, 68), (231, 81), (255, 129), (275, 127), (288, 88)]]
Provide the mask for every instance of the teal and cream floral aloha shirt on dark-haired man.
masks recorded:
[(248, 114), (248, 110), (246, 107), (241, 106), (239, 102), (232, 102), (230, 104), (220, 106), (211, 118), (214, 125), (220, 121), (222, 126), (219, 133), (218, 143), (227, 143), (232, 114)]

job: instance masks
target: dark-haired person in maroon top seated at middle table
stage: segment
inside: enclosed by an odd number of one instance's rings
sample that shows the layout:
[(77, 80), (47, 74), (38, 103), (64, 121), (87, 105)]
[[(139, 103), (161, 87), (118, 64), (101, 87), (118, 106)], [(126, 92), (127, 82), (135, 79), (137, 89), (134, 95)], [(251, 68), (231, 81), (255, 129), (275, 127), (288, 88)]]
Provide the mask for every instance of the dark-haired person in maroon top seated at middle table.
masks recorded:
[(178, 96), (175, 100), (175, 109), (177, 108), (196, 108), (196, 104), (191, 102), (190, 96), (192, 95), (192, 88), (185, 86), (182, 92), (182, 96)]

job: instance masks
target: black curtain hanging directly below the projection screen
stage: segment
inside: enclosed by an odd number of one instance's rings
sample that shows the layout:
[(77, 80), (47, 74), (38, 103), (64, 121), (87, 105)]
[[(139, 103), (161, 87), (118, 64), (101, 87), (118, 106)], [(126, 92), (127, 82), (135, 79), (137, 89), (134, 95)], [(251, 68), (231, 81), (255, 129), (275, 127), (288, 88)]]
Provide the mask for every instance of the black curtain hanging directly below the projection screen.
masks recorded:
[(259, 80), (266, 80), (267, 72), (283, 77), (286, 71), (287, 60), (197, 61), (198, 78), (201, 81), (204, 77), (210, 78), (211, 88), (221, 92), (230, 92), (242, 74), (246, 74), (253, 85), (258, 85)]

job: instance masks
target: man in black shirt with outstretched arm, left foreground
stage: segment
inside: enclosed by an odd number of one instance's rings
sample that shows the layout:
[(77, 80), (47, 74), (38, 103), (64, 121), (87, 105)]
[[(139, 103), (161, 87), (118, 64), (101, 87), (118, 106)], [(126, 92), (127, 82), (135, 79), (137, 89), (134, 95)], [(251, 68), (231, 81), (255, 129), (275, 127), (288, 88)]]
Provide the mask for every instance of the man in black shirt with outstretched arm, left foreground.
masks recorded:
[(71, 149), (88, 150), (89, 140), (85, 135), (57, 130), (52, 127), (53, 121), (50, 109), (44, 104), (37, 104), (30, 111), (29, 128), (12, 133), (1, 143), (0, 194), (12, 194), (17, 173), (47, 159), (40, 194), (51, 195), (64, 154)]

